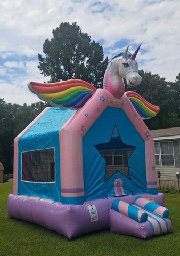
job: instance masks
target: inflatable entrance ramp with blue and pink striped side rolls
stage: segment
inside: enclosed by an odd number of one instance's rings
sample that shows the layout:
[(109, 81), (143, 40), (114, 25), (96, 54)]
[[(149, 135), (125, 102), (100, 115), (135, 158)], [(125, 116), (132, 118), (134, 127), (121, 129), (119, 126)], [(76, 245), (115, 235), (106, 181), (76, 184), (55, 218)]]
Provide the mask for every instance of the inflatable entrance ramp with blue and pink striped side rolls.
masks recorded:
[(138, 196), (134, 204), (116, 199), (110, 210), (110, 230), (114, 233), (148, 238), (172, 231), (169, 210)]

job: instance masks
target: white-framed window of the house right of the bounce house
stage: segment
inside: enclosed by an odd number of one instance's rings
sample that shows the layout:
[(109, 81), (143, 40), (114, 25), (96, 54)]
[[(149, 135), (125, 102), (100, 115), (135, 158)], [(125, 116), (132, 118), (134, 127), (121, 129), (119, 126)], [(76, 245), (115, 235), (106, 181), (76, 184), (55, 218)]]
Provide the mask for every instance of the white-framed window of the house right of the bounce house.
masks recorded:
[(156, 166), (174, 166), (173, 141), (155, 142)]

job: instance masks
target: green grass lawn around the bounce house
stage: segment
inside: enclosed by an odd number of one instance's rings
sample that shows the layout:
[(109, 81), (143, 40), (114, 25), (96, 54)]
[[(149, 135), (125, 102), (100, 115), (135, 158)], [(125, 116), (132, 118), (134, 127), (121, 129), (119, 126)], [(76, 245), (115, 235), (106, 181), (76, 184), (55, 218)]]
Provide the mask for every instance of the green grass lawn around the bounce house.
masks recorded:
[(34, 223), (7, 217), (7, 195), (12, 182), (0, 184), (0, 256), (30, 255), (180, 255), (180, 195), (165, 194), (173, 233), (140, 239), (111, 233), (109, 229), (68, 238)]

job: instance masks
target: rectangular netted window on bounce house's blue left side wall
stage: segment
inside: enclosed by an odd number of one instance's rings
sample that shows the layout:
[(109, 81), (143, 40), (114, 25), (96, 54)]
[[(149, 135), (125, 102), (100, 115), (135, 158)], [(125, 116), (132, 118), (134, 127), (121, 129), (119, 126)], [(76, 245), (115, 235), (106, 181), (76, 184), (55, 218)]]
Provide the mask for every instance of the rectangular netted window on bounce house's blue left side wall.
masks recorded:
[(22, 181), (54, 182), (55, 149), (47, 148), (23, 152)]

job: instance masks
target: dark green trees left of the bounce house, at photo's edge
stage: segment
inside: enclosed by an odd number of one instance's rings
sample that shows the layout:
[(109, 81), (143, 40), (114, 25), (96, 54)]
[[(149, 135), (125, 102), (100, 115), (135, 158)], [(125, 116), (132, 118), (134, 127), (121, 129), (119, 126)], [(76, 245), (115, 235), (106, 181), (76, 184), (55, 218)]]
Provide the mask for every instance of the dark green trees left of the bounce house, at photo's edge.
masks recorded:
[(43, 102), (24, 104), (6, 103), (0, 99), (0, 162), (5, 172), (13, 170), (13, 140), (46, 107)]

